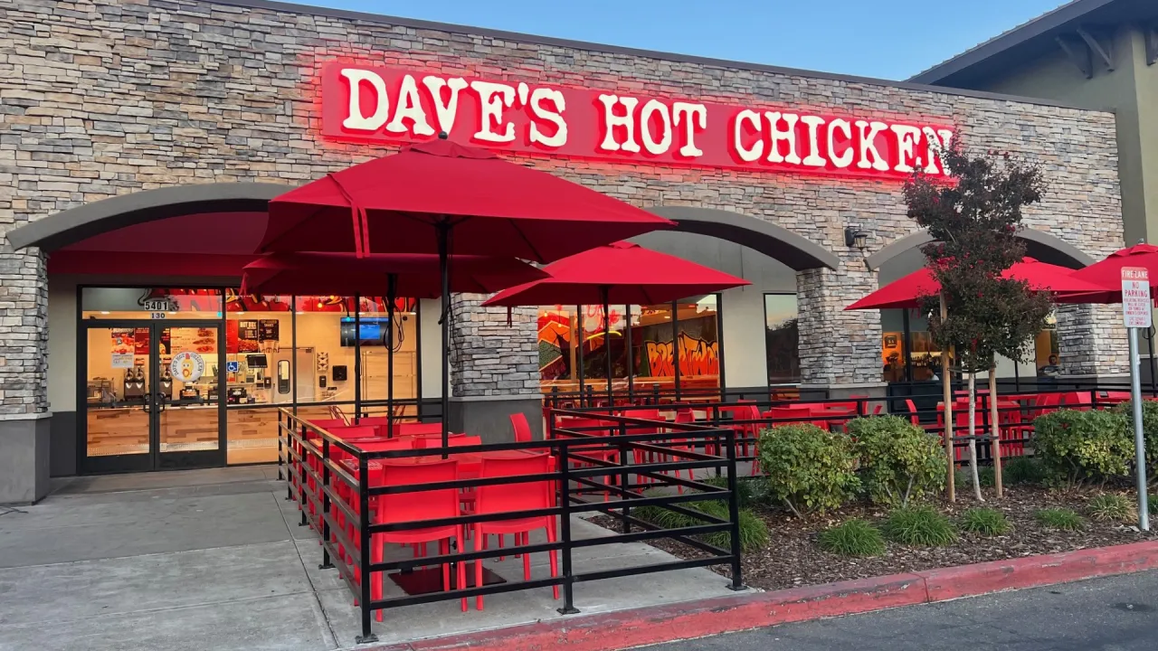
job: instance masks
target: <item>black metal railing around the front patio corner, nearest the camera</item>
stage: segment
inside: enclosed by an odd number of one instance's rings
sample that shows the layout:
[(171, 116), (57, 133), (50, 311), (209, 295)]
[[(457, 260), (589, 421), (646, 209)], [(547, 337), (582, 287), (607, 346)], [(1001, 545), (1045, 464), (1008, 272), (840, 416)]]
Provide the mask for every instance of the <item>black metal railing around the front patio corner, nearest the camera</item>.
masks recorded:
[[(366, 452), (340, 438), (340, 431), (327, 431), (281, 410), (278, 424), (279, 476), (287, 480), (287, 499), (299, 503), (301, 526), (312, 526), (322, 540), (322, 568), (334, 568), (354, 595), (361, 614), (359, 642), (372, 642), (372, 619), (375, 612), (433, 601), (466, 599), (519, 590), (554, 587), (563, 592), (560, 613), (578, 612), (574, 607), (577, 583), (664, 572), (697, 566), (727, 565), (731, 586), (742, 588), (740, 568), (739, 504), (736, 500), (735, 436), (732, 430), (708, 424), (670, 424), (629, 416), (601, 416), (587, 422), (580, 411), (552, 410), (544, 440), (391, 449)], [(709, 453), (712, 451), (713, 453)], [(393, 485), (376, 482), (378, 470), (394, 465), (413, 465), (423, 458), (467, 460), (474, 456), (485, 463), (494, 453), (548, 453), (552, 460), (547, 473), (501, 477), (476, 476), (455, 481)], [(688, 477), (680, 473), (688, 473)], [(698, 481), (696, 473), (727, 477), (726, 487)], [(673, 475), (675, 473), (675, 475)], [(415, 521), (391, 521), (380, 509), (383, 496), (419, 493), (431, 490), (478, 491), (498, 484), (543, 483), (552, 487), (550, 504), (537, 509), (484, 513), (460, 513), (454, 517)], [(658, 489), (658, 490), (657, 490)], [(674, 490), (672, 490), (674, 489)], [(646, 492), (645, 492), (646, 491)], [(694, 507), (697, 502), (725, 500), (726, 519)], [(701, 524), (662, 528), (633, 517), (632, 509), (661, 507), (695, 518)], [(615, 518), (620, 532), (596, 537), (578, 537), (572, 532), (572, 515), (602, 513)], [(431, 527), (470, 527), (472, 525), (525, 518), (557, 519), (557, 535), (547, 542), (516, 544), (500, 549), (464, 549), (463, 536), (456, 536), (459, 549), (448, 548), (437, 556), (395, 561), (375, 561), (372, 547), (380, 543), (376, 534), (416, 532)], [(726, 532), (728, 547), (709, 544), (702, 536)], [(464, 532), (466, 533), (466, 532)], [(556, 540), (550, 540), (555, 537)], [(691, 559), (677, 559), (645, 565), (592, 571), (577, 566), (576, 549), (667, 539), (689, 544), (702, 554)], [(432, 541), (433, 542), (433, 541)], [(459, 564), (547, 551), (560, 556), (557, 576), (513, 580), (490, 585), (460, 585)], [(390, 572), (411, 572), (418, 568), (449, 565), (450, 590), (422, 594), (383, 597), (374, 594), (373, 581), (382, 581)], [(476, 568), (477, 570), (477, 568)], [(466, 572), (463, 572), (466, 573)], [(398, 575), (390, 575), (397, 580)], [(379, 615), (381, 616), (381, 615)]]

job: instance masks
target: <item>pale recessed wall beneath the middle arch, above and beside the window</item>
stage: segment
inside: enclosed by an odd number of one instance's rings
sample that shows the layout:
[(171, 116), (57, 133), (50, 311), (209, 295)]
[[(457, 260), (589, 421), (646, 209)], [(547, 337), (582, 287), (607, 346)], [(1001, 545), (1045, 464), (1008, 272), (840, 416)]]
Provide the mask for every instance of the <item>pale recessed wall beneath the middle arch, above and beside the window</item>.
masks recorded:
[(632, 241), (752, 281), (720, 294), (724, 382), (728, 387), (767, 386), (764, 293), (796, 293), (796, 271), (764, 254), (709, 235), (659, 231)]

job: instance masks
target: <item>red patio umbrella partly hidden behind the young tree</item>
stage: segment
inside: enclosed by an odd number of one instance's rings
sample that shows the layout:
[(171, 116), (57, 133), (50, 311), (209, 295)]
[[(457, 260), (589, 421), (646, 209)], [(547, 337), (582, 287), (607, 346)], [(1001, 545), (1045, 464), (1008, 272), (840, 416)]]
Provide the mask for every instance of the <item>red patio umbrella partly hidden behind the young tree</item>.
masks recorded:
[[(1025, 280), (1033, 290), (1053, 292), (1058, 302), (1092, 302), (1082, 300), (1087, 292), (1105, 291), (1105, 285), (1090, 283), (1077, 276), (1069, 268), (1039, 262), (1032, 257), (1009, 268), (1004, 276)], [(899, 278), (888, 285), (872, 292), (844, 309), (893, 309), (919, 307), (918, 299), (940, 291), (938, 283), (929, 269), (922, 268), (908, 276)]]

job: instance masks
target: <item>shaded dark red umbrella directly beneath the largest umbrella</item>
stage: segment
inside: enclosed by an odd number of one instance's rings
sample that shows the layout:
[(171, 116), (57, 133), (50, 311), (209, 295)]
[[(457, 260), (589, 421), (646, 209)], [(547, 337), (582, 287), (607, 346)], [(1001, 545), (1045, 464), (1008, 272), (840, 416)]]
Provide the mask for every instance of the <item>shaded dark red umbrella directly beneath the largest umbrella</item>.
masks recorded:
[[(545, 271), (514, 258), (453, 256), (456, 273), (453, 292), (491, 293), (532, 280), (547, 278)], [(394, 306), (398, 294), (416, 299), (437, 298), (442, 283), (438, 277), (439, 257), (423, 254), (298, 253), (267, 254), (243, 269), (243, 294), (364, 294), (386, 291), (386, 314), (390, 339), (386, 346), (387, 431), (394, 418)], [(360, 375), (361, 359), (354, 359), (354, 375)], [(354, 383), (354, 418), (361, 412), (361, 385)], [(444, 423), (445, 426), (445, 423)]]

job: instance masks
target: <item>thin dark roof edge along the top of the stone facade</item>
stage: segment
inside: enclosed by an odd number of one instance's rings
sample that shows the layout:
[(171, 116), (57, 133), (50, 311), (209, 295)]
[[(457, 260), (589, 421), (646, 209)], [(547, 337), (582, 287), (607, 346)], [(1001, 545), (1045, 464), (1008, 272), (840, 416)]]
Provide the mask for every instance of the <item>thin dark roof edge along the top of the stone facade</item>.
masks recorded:
[[(1112, 0), (1100, 0), (1109, 2)], [(603, 43), (591, 43), (586, 41), (576, 41), (570, 38), (556, 38), (552, 36), (536, 36), (532, 34), (522, 34), (518, 31), (505, 31), (500, 29), (490, 29), (482, 27), (470, 27), (454, 23), (441, 23), (435, 21), (425, 21), (419, 19), (403, 19), (398, 16), (387, 16), (382, 14), (371, 14), (367, 12), (352, 12), (349, 9), (334, 9), (330, 7), (314, 7), (309, 5), (299, 5), (294, 2), (278, 2), (274, 0), (211, 0), (204, 5), (225, 5), (228, 7), (243, 7), (249, 9), (265, 9), (269, 12), (281, 12), (290, 14), (305, 14), (314, 16), (327, 16), (335, 19), (345, 19), (351, 21), (365, 21), (372, 23), (390, 24), (398, 27), (409, 27), (413, 29), (431, 29), (438, 31), (449, 31), (453, 34), (464, 34), (472, 36), (486, 36), (491, 38), (500, 38), (504, 41), (514, 41), (519, 43), (533, 43), (538, 45), (552, 45), (558, 47), (571, 47), (576, 50), (591, 50), (594, 52), (606, 52), (610, 54), (624, 54), (628, 57), (643, 57), (660, 59), (665, 61), (675, 61), (684, 64), (698, 64), (704, 66), (717, 66), (717, 67), (730, 67), (754, 72), (769, 72), (774, 74), (784, 74), (790, 76), (805, 76), (811, 79), (827, 79), (830, 81), (843, 81), (845, 83), (863, 83), (867, 86), (882, 86), (886, 88), (900, 88), (903, 90), (918, 90), (924, 93), (937, 93), (939, 95), (954, 95), (960, 97), (975, 97), (979, 100), (994, 100), (999, 102), (1018, 102), (1023, 104), (1035, 104), (1042, 107), (1057, 107), (1062, 109), (1076, 109), (1082, 111), (1091, 111), (1089, 107), (1082, 107), (1078, 104), (1058, 102), (1055, 100), (1048, 100), (1043, 97), (1026, 97), (1021, 95), (1006, 95), (1002, 93), (987, 93), (983, 90), (970, 90), (963, 88), (947, 88), (943, 86), (933, 86), (930, 83), (921, 83), (914, 81), (895, 81), (888, 79), (877, 79), (872, 76), (859, 76), (851, 74), (838, 74), (828, 72), (818, 72), (801, 68), (789, 68), (782, 66), (772, 66), (768, 64), (753, 64), (746, 61), (734, 61), (728, 59), (716, 59), (711, 57), (698, 57), (692, 54), (679, 54), (674, 52), (660, 52), (654, 50), (642, 50), (638, 47), (626, 47), (622, 45), (608, 45)], [(1113, 112), (1109, 110), (1102, 110), (1101, 112)]]

